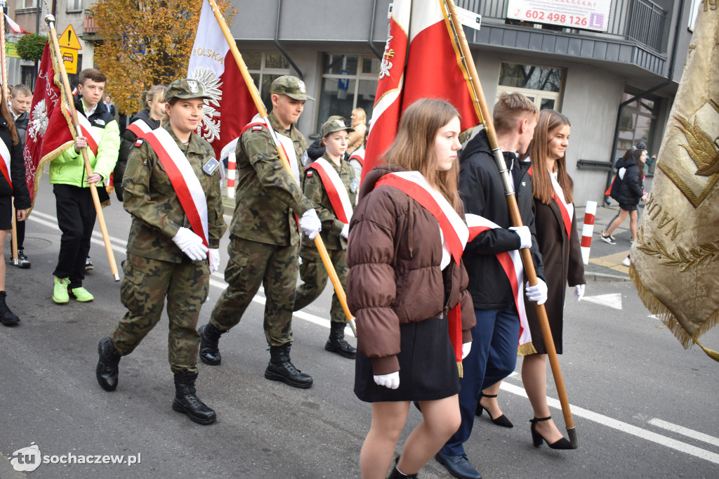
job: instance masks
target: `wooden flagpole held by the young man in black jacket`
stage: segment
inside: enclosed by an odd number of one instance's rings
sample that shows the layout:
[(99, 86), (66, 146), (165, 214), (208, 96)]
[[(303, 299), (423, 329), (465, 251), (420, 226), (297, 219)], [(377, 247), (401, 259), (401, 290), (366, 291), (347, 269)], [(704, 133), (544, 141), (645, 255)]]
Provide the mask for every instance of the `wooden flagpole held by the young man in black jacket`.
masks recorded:
[[(452, 27), (455, 32), (455, 40), (459, 46), (459, 50), (462, 52), (462, 60), (464, 68), (467, 68), (467, 73), (470, 75), (472, 81), (472, 93), (475, 96), (475, 101), (480, 107), (482, 114), (482, 122), (485, 126), (485, 132), (487, 132), (487, 139), (490, 142), (490, 147), (495, 156), (495, 162), (500, 170), (502, 179), (504, 182), (505, 196), (507, 198), (507, 204), (509, 206), (510, 216), (512, 223), (516, 227), (522, 226), (522, 218), (519, 214), (519, 207), (517, 206), (517, 199), (514, 194), (514, 186), (507, 169), (507, 164), (502, 154), (502, 149), (499, 146), (497, 140), (497, 132), (495, 132), (494, 124), (492, 122), (492, 115), (490, 114), (489, 106), (487, 105), (487, 99), (485, 99), (485, 93), (482, 90), (482, 84), (480, 83), (480, 77), (477, 75), (477, 68), (475, 62), (472, 60), (472, 52), (470, 46), (467, 44), (467, 37), (464, 36), (464, 29), (462, 24), (459, 22), (457, 17), (457, 11), (454, 8), (453, 0), (440, 0), (444, 1), (447, 12), (452, 19)], [(520, 250), (522, 263), (524, 265), (524, 273), (529, 280), (530, 286), (536, 286), (537, 275), (534, 270), (534, 263), (532, 262), (531, 252), (528, 248), (522, 248)], [(564, 379), (562, 378), (562, 370), (559, 368), (559, 359), (557, 358), (557, 349), (554, 347), (554, 339), (551, 336), (551, 329), (549, 328), (549, 319), (546, 315), (546, 309), (544, 304), (534, 304), (539, 317), (539, 325), (541, 327), (542, 335), (544, 336), (544, 345), (546, 346), (547, 354), (549, 355), (549, 364), (551, 365), (551, 372), (554, 375), (554, 384), (557, 386), (557, 394), (559, 395), (559, 402), (562, 403), (562, 414), (564, 414), (564, 424), (567, 426), (567, 435), (569, 436), (569, 442), (572, 444), (574, 449), (579, 447), (577, 442), (577, 431), (574, 429), (574, 419), (572, 418), (572, 411), (569, 409), (569, 399), (567, 398), (567, 389), (564, 388)]]

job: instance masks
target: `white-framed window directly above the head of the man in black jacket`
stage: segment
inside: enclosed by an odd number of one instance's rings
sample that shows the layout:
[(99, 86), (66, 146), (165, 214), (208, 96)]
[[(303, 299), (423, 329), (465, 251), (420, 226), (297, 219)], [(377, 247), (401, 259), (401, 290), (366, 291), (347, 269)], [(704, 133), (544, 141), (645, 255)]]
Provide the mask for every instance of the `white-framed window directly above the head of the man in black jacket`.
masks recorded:
[(538, 109), (562, 111), (564, 70), (538, 65), (502, 62), (499, 73), (497, 99), (500, 93), (522, 93)]

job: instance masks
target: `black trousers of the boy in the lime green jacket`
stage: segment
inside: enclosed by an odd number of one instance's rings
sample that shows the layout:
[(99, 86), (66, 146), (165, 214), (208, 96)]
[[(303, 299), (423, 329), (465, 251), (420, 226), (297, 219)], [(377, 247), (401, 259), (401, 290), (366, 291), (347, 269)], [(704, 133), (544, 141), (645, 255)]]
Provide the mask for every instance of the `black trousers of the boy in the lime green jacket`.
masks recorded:
[(90, 251), (90, 238), (97, 213), (90, 188), (53, 185), (58, 208), (60, 238), (58, 266), (52, 273), (58, 278), (70, 278), (70, 288), (83, 286), (85, 258)]

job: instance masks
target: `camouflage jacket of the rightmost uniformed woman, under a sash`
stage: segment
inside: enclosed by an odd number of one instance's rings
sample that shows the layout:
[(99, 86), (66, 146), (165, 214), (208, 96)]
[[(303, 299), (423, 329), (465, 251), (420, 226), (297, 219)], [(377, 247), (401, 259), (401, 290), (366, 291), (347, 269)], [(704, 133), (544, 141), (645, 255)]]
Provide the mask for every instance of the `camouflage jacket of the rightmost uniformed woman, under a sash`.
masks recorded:
[[(349, 201), (354, 208), (357, 204), (359, 178), (355, 181), (356, 177), (352, 165), (349, 165), (347, 161), (341, 158), (338, 166), (333, 160), (330, 160), (327, 153), (322, 155), (322, 158), (334, 167), (334, 170), (344, 184), (344, 188), (347, 189)], [(331, 201), (329, 201), (329, 196), (322, 183), (322, 178), (316, 170), (313, 170), (312, 165), (309, 165), (304, 173), (304, 191), (307, 199), (312, 201), (317, 211), (317, 216), (319, 216), (322, 222), (322, 231), (320, 234), (325, 247), (328, 250), (346, 250), (347, 239), (339, 235), (339, 233), (342, 232), (344, 223), (337, 219), (337, 215), (334, 213), (334, 208), (332, 207)], [(303, 255), (303, 257), (319, 257), (319, 252), (317, 252), (313, 239), (309, 239), (305, 234), (302, 235), (301, 255)]]

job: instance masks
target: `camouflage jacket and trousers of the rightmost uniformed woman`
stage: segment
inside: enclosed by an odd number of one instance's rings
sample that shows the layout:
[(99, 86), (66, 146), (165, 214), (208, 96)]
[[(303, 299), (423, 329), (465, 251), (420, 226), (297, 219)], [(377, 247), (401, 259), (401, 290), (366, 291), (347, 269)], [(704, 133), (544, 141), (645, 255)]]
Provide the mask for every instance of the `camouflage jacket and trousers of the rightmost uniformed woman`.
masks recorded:
[[(343, 159), (340, 159), (339, 165), (336, 165), (326, 153), (322, 155), (322, 158), (334, 167), (339, 178), (342, 179), (344, 187), (347, 188), (347, 194), (349, 195), (349, 201), (352, 203), (352, 206), (357, 204), (359, 178), (354, 175), (352, 166)], [(305, 196), (312, 201), (317, 211), (317, 216), (319, 216), (322, 222), (322, 231), (320, 234), (327, 248), (327, 253), (334, 265), (334, 270), (339, 277), (339, 282), (342, 283), (342, 288), (347, 289), (347, 272), (349, 268), (347, 268), (347, 261), (344, 257), (345, 251), (347, 250), (347, 239), (339, 235), (339, 233), (342, 232), (344, 223), (337, 219), (321, 178), (311, 166), (304, 175), (303, 184)], [(313, 240), (306, 236), (302, 237), (300, 256), (302, 257), (300, 277), (303, 280), (303, 284), (296, 289), (295, 311), (303, 309), (314, 301), (324, 290), (328, 278), (327, 270), (324, 268), (324, 264), (322, 264), (319, 251), (317, 251)], [(332, 295), (330, 319), (332, 322), (347, 323), (347, 316), (344, 314), (342, 305), (339, 304), (336, 293)]]

